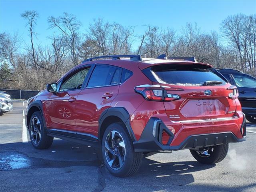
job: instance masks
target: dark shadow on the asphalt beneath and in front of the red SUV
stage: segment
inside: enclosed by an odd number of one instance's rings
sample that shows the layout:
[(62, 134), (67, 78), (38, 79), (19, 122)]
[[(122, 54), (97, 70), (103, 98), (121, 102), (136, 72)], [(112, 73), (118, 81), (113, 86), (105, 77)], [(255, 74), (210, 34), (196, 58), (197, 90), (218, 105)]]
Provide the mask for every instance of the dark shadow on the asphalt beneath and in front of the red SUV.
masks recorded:
[[(47, 176), (41, 178), (40, 186), (45, 186), (48, 182), (48, 175), (53, 183), (60, 182), (62, 186), (57, 191), (232, 191), (242, 192), (255, 185), (246, 185), (239, 188), (216, 185), (202, 185), (195, 182), (193, 172), (206, 171), (214, 168), (213, 165), (204, 165), (196, 161), (166, 162), (144, 158), (138, 173), (128, 178), (116, 178), (110, 175), (96, 150), (90, 146), (84, 146), (64, 140), (54, 140), (53, 145), (46, 150), (36, 150), (28, 143), (9, 143), (0, 145), (0, 170), (2, 189), (14, 190), (8, 182), (12, 178), (20, 183), (26, 183), (30, 190), (33, 190), (33, 182), (30, 182), (20, 171), (26, 174), (43, 174)], [(57, 171), (56, 171), (57, 168)], [(35, 171), (35, 170), (40, 170)], [(51, 172), (49, 170), (54, 170)], [(84, 172), (84, 175), (81, 175)], [(4, 173), (4, 174), (3, 174)], [(75, 178), (79, 176), (79, 178)], [(62, 181), (60, 181), (60, 179)], [(93, 181), (88, 182), (92, 179)], [(8, 181), (7, 181), (8, 180)], [(64, 182), (68, 181), (68, 182)], [(69, 182), (70, 181), (70, 182)], [(195, 182), (195, 183), (194, 183)], [(201, 182), (200, 182), (201, 183)], [(18, 185), (18, 183), (17, 183)], [(19, 184), (20, 185), (20, 184)], [(67, 187), (69, 186), (69, 187)], [(57, 186), (47, 185), (45, 190), (56, 189)], [(25, 188), (24, 188), (25, 190)]]

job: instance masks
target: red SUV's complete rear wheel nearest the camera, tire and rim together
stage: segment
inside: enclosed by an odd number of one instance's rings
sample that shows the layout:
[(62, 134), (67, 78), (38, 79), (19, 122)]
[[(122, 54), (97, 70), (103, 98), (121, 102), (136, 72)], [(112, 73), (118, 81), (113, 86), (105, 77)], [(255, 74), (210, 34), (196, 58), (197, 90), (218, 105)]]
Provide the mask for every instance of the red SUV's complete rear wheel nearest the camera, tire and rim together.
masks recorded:
[(116, 177), (134, 174), (142, 162), (142, 153), (134, 152), (130, 136), (121, 123), (110, 124), (102, 138), (102, 157), (108, 171)]

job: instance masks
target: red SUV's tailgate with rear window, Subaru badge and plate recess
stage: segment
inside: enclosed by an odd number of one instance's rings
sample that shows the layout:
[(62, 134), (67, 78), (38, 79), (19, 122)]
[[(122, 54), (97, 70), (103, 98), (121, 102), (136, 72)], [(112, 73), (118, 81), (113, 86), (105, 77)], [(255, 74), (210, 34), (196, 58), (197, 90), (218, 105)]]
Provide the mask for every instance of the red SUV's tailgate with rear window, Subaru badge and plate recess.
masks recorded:
[[(232, 90), (227, 90), (231, 85), (212, 68), (199, 64), (165, 64), (152, 67), (151, 71), (162, 85), (177, 88), (167, 90), (167, 94), (181, 97), (164, 102), (170, 120), (191, 122), (234, 115), (236, 103), (228, 98)], [(216, 84), (206, 84), (207, 81), (215, 81)]]

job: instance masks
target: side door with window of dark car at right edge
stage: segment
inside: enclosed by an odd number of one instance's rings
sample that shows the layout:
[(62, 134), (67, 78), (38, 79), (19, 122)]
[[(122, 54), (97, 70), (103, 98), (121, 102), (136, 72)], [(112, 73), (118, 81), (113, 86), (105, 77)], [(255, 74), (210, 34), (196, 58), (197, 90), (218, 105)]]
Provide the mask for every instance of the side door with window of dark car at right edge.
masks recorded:
[(246, 74), (232, 74), (243, 108), (256, 108), (256, 78)]

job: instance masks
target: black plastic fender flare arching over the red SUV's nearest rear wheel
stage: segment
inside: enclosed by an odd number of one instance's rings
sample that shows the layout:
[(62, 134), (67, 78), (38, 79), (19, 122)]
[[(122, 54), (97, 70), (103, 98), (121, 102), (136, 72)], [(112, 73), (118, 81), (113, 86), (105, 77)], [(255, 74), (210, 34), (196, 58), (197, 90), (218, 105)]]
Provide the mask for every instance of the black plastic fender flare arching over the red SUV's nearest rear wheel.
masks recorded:
[(137, 141), (136, 137), (134, 135), (134, 132), (132, 130), (132, 127), (130, 125), (130, 114), (128, 113), (128, 111), (124, 107), (107, 108), (102, 112), (102, 114), (100, 115), (100, 118), (99, 118), (99, 126), (98, 126), (99, 139), (100, 139), (100, 135), (101, 135), (102, 123), (109, 116), (116, 116), (119, 119), (121, 119), (122, 122), (124, 123), (124, 125), (126, 126), (126, 129), (129, 133), (130, 138), (132, 139), (132, 141)]

